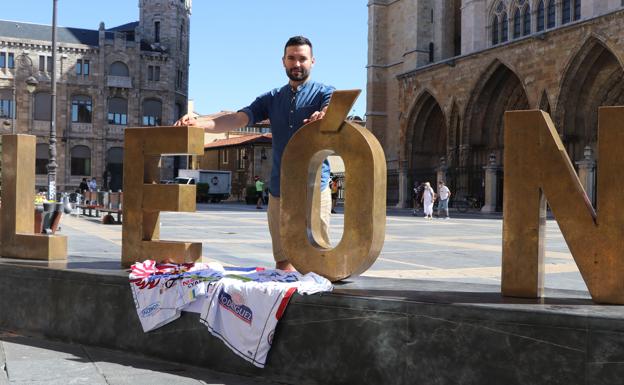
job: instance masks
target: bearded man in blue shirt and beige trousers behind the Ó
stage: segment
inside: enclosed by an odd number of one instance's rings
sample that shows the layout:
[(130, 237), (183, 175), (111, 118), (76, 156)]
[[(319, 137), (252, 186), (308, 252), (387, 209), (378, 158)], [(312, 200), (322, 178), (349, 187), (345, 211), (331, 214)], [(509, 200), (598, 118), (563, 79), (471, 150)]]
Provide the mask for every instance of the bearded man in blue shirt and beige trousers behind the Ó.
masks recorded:
[[(220, 133), (270, 119), (273, 133), (273, 160), (267, 210), (269, 232), (273, 243), (275, 267), (293, 270), (293, 266), (283, 253), (279, 235), (282, 154), (290, 138), (301, 126), (323, 118), (334, 88), (309, 79), (310, 71), (314, 66), (314, 55), (312, 43), (303, 36), (291, 37), (286, 42), (282, 64), (288, 76), (288, 84), (260, 95), (248, 107), (214, 119), (194, 114), (185, 115), (175, 124), (200, 126), (206, 132)], [(321, 229), (323, 240), (329, 244), (331, 194), (328, 182), (329, 162), (325, 160), (321, 172)]]

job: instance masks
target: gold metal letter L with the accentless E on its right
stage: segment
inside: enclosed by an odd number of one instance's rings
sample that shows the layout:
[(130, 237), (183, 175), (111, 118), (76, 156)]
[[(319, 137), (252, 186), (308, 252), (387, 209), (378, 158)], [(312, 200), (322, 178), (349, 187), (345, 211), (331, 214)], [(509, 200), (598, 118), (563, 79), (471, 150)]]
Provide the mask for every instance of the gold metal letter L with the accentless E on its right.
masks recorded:
[(2, 136), (2, 256), (67, 259), (67, 237), (34, 234), (35, 148), (32, 135)]

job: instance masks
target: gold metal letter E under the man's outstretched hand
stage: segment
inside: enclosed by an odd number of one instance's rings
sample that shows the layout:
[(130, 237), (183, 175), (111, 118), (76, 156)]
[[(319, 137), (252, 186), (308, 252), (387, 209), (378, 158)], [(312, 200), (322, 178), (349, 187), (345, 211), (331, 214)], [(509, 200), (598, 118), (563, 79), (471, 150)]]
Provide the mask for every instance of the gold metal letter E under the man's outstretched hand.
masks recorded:
[(125, 130), (124, 205), (121, 263), (153, 259), (192, 262), (201, 257), (201, 243), (163, 241), (161, 211), (195, 211), (195, 185), (158, 184), (162, 154), (204, 153), (200, 127), (142, 127)]

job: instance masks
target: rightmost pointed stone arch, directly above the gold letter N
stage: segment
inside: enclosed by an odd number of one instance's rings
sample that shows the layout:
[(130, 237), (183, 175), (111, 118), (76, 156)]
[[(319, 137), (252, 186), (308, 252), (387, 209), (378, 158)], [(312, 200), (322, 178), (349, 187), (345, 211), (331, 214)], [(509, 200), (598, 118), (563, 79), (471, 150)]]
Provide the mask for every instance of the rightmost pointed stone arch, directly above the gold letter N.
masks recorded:
[(568, 63), (561, 82), (556, 122), (570, 158), (595, 147), (598, 107), (624, 104), (624, 69), (613, 51), (589, 37)]

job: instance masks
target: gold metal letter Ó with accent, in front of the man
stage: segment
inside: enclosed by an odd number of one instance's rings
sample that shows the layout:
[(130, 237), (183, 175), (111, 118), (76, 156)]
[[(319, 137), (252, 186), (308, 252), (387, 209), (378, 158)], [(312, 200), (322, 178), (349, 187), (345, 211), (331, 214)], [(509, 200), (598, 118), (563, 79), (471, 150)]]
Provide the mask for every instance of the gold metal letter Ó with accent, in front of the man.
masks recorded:
[[(335, 91), (325, 117), (301, 127), (282, 157), (280, 234), (284, 253), (299, 272), (312, 271), (331, 281), (366, 271), (379, 256), (385, 236), (383, 149), (370, 131), (345, 121), (359, 93)], [(343, 237), (331, 249), (321, 239), (318, 218), (319, 170), (333, 153), (344, 160), (349, 187), (345, 189)], [(306, 204), (310, 200), (311, 208)]]

